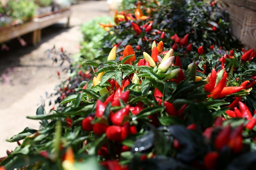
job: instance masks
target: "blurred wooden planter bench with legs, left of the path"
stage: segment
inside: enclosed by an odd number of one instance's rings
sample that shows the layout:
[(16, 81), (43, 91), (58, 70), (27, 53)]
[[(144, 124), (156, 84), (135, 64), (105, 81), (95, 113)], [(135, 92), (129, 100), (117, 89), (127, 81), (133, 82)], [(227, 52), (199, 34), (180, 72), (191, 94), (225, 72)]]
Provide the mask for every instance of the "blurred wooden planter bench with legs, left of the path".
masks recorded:
[(71, 10), (67, 9), (65, 11), (53, 13), (42, 18), (33, 18), (33, 20), (22, 25), (6, 26), (4, 29), (0, 30), (0, 43), (32, 32), (31, 43), (36, 45), (41, 40), (41, 29), (55, 24), (62, 18), (67, 18), (66, 26), (68, 27), (70, 22), (70, 15)]

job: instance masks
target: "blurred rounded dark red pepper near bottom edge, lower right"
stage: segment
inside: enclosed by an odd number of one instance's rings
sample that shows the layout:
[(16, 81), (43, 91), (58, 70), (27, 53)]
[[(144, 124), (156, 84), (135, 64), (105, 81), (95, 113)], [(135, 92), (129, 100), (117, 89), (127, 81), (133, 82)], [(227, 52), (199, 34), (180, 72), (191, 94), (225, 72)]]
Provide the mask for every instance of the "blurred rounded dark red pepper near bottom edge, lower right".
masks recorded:
[(214, 169), (218, 165), (219, 153), (216, 151), (208, 152), (204, 156), (204, 166), (206, 169)]

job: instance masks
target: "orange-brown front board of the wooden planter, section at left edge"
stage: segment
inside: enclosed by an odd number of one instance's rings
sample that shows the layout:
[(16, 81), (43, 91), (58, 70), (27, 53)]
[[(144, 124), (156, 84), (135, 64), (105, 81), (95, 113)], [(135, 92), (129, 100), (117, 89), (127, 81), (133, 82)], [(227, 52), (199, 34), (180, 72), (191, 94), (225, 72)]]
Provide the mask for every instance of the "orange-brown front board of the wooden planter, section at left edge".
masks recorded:
[(13, 38), (17, 38), (26, 33), (30, 33), (36, 29), (38, 29), (38, 23), (35, 23), (33, 21), (26, 22), (22, 25), (7, 27), (6, 29), (2, 29), (0, 31), (0, 43), (6, 42)]

